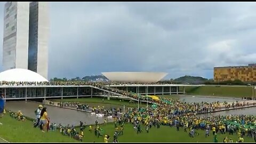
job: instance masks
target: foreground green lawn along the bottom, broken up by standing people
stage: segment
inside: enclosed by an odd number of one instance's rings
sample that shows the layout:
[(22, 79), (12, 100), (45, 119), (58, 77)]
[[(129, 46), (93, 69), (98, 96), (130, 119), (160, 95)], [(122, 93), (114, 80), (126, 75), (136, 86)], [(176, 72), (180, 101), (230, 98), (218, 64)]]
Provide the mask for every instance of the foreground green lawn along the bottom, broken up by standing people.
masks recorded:
[[(42, 133), (39, 129), (33, 127), (31, 121), (21, 122), (17, 119), (11, 118), (6, 114), (3, 118), (0, 118), (0, 137), (6, 139), (10, 142), (77, 142), (74, 139), (68, 138), (67, 136), (61, 135), (59, 131)], [(110, 135), (110, 141), (113, 140), (114, 134), (114, 124), (109, 123), (106, 126), (100, 126), (105, 134)], [(94, 129), (94, 127), (93, 127)], [(205, 138), (204, 131), (197, 130), (199, 136), (195, 138), (188, 137), (188, 133), (180, 131), (177, 132), (174, 127), (161, 126), (160, 129), (154, 126), (149, 129), (149, 133), (146, 133), (145, 126), (142, 126), (142, 133), (137, 134), (133, 129), (133, 126), (126, 123), (124, 126), (124, 135), (118, 137), (119, 142), (213, 142), (213, 136)], [(223, 140), (224, 137), (232, 138), (237, 141), (237, 135), (218, 134), (219, 142)], [(94, 132), (89, 132), (89, 127), (84, 130), (83, 142), (103, 142), (102, 137), (95, 137)], [(254, 142), (252, 138), (244, 137), (245, 142)]]

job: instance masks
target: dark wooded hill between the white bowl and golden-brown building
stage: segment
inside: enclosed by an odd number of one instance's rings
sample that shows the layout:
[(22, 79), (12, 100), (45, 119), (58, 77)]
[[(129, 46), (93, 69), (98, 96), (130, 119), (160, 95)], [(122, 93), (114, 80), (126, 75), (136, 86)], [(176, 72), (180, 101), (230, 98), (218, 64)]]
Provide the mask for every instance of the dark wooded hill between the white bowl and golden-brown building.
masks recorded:
[(204, 78), (204, 77), (199, 77), (199, 76), (182, 76), (182, 77), (174, 79), (173, 81), (183, 83), (183, 84), (184, 83), (202, 84), (202, 83), (208, 81), (208, 79)]

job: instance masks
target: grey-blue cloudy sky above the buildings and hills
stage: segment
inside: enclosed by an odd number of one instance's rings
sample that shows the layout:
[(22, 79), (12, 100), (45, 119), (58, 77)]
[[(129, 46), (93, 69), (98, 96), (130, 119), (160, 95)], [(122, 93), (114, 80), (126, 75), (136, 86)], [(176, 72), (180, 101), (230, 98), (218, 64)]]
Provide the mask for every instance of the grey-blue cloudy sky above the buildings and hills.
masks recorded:
[[(256, 62), (256, 3), (49, 5), (49, 78), (103, 71), (164, 71), (169, 73), (166, 78), (212, 78), (214, 66)], [(0, 31), (3, 12), (0, 3)]]

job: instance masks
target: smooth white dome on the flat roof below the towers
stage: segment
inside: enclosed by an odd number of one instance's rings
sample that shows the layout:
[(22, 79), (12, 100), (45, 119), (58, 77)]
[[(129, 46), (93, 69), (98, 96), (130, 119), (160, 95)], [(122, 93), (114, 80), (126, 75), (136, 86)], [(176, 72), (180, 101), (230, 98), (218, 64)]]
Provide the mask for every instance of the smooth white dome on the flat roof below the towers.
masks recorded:
[(0, 82), (49, 82), (43, 76), (28, 69), (9, 69), (0, 73)]

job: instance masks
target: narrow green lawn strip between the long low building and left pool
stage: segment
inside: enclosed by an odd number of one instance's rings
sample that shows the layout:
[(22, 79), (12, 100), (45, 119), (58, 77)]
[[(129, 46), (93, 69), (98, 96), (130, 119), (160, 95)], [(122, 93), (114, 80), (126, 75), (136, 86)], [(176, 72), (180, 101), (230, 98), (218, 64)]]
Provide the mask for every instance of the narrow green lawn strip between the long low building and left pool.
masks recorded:
[[(59, 99), (59, 100), (53, 100), (53, 101), (71, 101), (71, 102), (81, 102), (81, 103), (87, 103), (90, 107), (97, 107), (97, 106), (104, 106), (106, 108), (110, 108), (110, 107), (119, 107), (119, 108), (123, 108), (124, 105), (126, 107), (138, 107), (138, 102), (134, 101), (133, 103), (129, 103), (129, 100), (121, 100), (120, 99), (110, 99), (108, 100), (107, 98), (104, 98), (104, 101), (102, 101), (102, 98), (78, 98), (78, 99)], [(150, 103), (148, 103), (148, 105), (150, 106)], [(142, 107), (146, 107), (147, 104), (146, 103), (141, 103)]]

